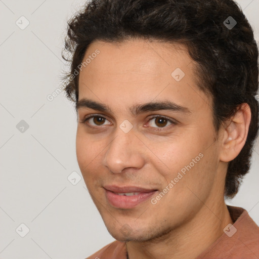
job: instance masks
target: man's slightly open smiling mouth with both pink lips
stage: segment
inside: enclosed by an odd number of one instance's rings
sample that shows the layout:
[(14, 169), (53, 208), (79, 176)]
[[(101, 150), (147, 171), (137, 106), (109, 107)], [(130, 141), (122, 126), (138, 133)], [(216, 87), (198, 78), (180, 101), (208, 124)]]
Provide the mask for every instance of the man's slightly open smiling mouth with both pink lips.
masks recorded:
[(158, 190), (146, 189), (136, 186), (105, 186), (107, 201), (116, 208), (134, 208), (140, 203), (151, 198)]

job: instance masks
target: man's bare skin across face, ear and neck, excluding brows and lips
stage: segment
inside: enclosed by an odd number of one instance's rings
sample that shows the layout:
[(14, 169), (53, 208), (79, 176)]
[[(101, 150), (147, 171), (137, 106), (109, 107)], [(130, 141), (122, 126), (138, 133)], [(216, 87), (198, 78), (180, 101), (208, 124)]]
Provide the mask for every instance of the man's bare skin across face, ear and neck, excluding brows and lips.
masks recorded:
[[(249, 106), (243, 104), (217, 135), (211, 97), (199, 90), (197, 64), (183, 46), (143, 39), (94, 41), (83, 60), (96, 49), (100, 54), (80, 71), (78, 99), (108, 105), (111, 112), (77, 109), (76, 154), (89, 193), (109, 233), (126, 242), (129, 258), (195, 258), (233, 224), (224, 201), (225, 176), (228, 161), (245, 143)], [(180, 81), (171, 76), (176, 68), (185, 73)], [(158, 110), (134, 116), (129, 109), (165, 100), (190, 113)], [(90, 115), (105, 119), (83, 123)], [(154, 115), (176, 123), (165, 120), (161, 126)], [(119, 127), (125, 119), (133, 125), (128, 133)], [(203, 157), (156, 204), (148, 199), (119, 209), (107, 201), (105, 185), (161, 192), (200, 153)], [(125, 224), (126, 235), (120, 231)]]

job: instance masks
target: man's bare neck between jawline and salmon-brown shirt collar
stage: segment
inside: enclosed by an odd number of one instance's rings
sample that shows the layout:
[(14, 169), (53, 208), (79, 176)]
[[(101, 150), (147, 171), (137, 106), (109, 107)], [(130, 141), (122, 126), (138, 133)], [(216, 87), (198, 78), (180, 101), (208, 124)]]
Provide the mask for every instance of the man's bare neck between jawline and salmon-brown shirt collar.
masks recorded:
[(194, 259), (233, 224), (225, 201), (201, 207), (195, 217), (183, 226), (172, 229), (164, 236), (145, 242), (126, 243), (127, 259)]

